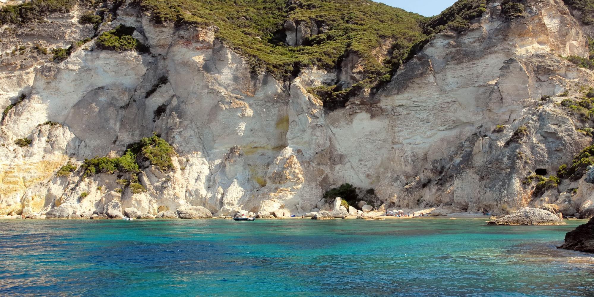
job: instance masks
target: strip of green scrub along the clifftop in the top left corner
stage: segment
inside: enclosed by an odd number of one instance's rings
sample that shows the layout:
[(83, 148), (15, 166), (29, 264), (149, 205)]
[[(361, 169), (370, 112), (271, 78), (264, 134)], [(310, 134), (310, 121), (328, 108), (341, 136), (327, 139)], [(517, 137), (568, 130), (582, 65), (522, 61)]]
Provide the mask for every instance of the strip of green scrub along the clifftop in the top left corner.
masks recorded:
[(77, 0), (31, 0), (19, 5), (7, 5), (0, 10), (0, 24), (23, 24), (40, 20), (53, 12), (68, 12)]

